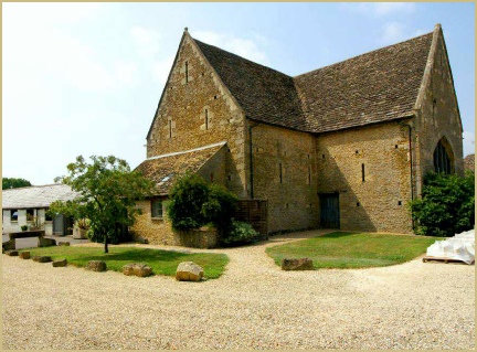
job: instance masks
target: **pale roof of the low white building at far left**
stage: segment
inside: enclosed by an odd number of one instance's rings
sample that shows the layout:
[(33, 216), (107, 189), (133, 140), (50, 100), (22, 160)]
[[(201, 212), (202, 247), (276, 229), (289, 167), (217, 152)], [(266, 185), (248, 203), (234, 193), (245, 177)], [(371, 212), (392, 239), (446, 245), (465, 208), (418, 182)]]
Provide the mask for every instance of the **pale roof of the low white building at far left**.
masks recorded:
[(78, 194), (66, 184), (33, 185), (2, 190), (2, 209), (49, 207), (54, 201), (72, 201)]

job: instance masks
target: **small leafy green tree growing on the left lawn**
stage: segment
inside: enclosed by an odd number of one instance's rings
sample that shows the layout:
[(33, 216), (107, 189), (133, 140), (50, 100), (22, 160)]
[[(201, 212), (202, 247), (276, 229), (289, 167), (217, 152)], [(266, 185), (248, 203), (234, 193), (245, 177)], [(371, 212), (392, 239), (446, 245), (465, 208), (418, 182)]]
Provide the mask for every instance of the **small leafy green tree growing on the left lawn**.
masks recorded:
[(128, 163), (116, 157), (91, 157), (88, 163), (80, 156), (76, 162), (67, 166), (68, 175), (56, 178), (80, 193), (74, 201), (54, 202), (52, 214), (65, 214), (76, 220), (88, 218), (91, 230), (97, 241), (104, 242), (105, 253), (108, 243), (120, 235), (120, 227), (135, 223), (138, 210), (136, 201), (150, 195), (151, 181), (137, 171), (130, 171)]

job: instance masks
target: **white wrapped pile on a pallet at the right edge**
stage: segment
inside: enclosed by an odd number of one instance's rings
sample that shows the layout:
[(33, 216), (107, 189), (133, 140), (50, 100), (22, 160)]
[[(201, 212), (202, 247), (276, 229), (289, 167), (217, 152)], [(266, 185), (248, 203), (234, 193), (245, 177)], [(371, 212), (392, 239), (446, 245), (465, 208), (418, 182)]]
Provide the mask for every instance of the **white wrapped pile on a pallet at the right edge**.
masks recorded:
[(475, 230), (463, 232), (445, 241), (436, 241), (427, 248), (427, 256), (473, 264), (475, 260)]

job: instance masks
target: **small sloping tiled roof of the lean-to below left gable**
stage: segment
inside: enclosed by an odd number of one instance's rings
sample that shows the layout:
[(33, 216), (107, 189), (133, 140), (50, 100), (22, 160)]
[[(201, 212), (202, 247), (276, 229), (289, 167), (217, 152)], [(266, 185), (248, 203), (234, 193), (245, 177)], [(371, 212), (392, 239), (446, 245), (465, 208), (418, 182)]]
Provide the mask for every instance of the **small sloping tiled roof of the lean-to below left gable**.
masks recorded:
[(156, 183), (157, 194), (169, 193), (176, 178), (186, 172), (195, 173), (212, 158), (225, 142), (149, 158), (142, 161), (136, 170)]

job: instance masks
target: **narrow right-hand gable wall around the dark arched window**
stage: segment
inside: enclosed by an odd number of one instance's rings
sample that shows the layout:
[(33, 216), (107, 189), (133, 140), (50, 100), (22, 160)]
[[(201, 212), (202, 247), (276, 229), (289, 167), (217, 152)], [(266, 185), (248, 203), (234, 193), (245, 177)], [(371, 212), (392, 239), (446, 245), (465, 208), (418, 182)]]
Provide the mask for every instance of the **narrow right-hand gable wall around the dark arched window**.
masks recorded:
[(452, 148), (455, 171), (458, 174), (464, 171), (462, 121), (442, 32), (435, 44), (426, 89), (417, 110), (418, 118), (413, 126), (417, 194), (421, 194), (424, 175), (434, 171), (434, 150), (443, 137)]

